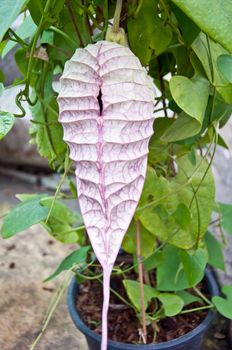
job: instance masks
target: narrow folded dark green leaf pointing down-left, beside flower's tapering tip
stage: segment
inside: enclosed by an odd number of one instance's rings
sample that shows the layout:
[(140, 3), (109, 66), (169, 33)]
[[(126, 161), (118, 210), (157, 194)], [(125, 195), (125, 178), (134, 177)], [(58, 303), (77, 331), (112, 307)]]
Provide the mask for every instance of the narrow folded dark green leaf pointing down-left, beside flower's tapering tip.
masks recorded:
[(57, 269), (53, 272), (53, 274), (47, 277), (44, 280), (44, 282), (51, 281), (52, 279), (56, 278), (60, 273), (62, 273), (65, 270), (71, 270), (72, 268), (77, 267), (77, 265), (85, 263), (89, 250), (90, 250), (90, 246), (81, 247), (77, 250), (74, 250), (74, 252), (66, 256), (66, 258), (60, 263)]

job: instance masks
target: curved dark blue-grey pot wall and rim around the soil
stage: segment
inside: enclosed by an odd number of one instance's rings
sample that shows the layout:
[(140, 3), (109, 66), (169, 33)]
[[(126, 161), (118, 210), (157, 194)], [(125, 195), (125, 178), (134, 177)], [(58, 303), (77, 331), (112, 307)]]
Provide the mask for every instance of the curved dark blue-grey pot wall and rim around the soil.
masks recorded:
[[(206, 283), (209, 289), (209, 292), (212, 296), (219, 295), (219, 289), (217, 282), (215, 278), (213, 277), (212, 272), (207, 268), (205, 271), (205, 279)], [(97, 341), (101, 342), (101, 336), (96, 334), (94, 331), (90, 330), (88, 326), (81, 320), (77, 310), (76, 310), (76, 295), (78, 293), (78, 284), (76, 282), (75, 277), (72, 278), (70, 285), (68, 287), (68, 294), (67, 294), (67, 304), (68, 304), (68, 309), (69, 313), (71, 315), (71, 318), (76, 325), (76, 327), (87, 337)], [(215, 312), (210, 310), (208, 312), (208, 315), (205, 317), (205, 319), (192, 331), (186, 333), (185, 335), (182, 335), (179, 338), (169, 340), (167, 342), (162, 342), (162, 343), (153, 343), (153, 344), (126, 344), (126, 343), (121, 343), (121, 342), (116, 342), (109, 340), (108, 345), (117, 349), (117, 348), (123, 348), (123, 349), (128, 349), (128, 350), (134, 350), (136, 347), (139, 348), (144, 348), (145, 349), (151, 349), (151, 350), (161, 350), (161, 349), (172, 349), (175, 348), (175, 346), (184, 344), (189, 342), (191, 339), (197, 337), (200, 334), (205, 333), (205, 331), (208, 329), (210, 326), (213, 318), (215, 316)]]

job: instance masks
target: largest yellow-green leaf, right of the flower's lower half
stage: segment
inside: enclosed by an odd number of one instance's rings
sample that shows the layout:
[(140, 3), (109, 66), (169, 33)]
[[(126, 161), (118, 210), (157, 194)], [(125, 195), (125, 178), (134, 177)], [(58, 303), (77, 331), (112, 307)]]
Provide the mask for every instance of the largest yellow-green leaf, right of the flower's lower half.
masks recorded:
[(162, 241), (189, 249), (204, 236), (210, 222), (214, 181), (199, 157), (195, 166), (187, 156), (178, 159), (177, 166), (178, 174), (169, 180), (148, 168), (136, 216)]

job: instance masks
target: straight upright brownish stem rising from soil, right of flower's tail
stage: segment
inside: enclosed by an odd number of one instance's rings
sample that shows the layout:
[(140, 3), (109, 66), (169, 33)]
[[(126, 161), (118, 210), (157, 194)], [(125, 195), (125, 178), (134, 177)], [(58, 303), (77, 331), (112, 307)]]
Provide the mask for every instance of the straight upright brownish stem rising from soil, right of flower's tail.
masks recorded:
[(140, 223), (136, 221), (136, 255), (138, 260), (139, 284), (140, 284), (140, 303), (142, 314), (143, 342), (147, 343), (147, 327), (146, 327), (146, 310), (144, 304), (144, 285), (143, 285), (143, 263), (141, 258), (140, 247)]

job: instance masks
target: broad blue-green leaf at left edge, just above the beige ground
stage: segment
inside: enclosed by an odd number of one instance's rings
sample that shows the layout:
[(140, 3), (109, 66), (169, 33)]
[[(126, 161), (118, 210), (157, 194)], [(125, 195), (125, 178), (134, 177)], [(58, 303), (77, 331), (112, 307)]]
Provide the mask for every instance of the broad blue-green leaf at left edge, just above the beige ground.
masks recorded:
[(46, 219), (48, 208), (40, 203), (41, 196), (26, 200), (14, 207), (4, 218), (1, 235), (10, 238)]

